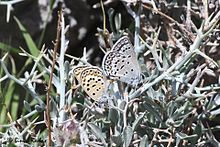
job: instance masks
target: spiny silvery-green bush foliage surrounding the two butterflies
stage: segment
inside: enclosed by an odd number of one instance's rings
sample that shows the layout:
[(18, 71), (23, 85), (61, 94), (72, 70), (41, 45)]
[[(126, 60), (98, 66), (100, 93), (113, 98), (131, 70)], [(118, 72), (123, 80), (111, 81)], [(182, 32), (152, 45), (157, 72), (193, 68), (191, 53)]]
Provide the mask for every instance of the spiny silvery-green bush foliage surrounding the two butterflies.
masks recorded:
[[(14, 18), (28, 48), (17, 53), (0, 42), (0, 144), (219, 146), (219, 1), (101, 1), (93, 8), (102, 12), (97, 50), (105, 53), (128, 36), (143, 83), (106, 77), (109, 97), (92, 100), (73, 74), (91, 66), (90, 51), (84, 48), (80, 58), (66, 53), (65, 9), (53, 49), (38, 48)], [(12, 52), (25, 59), (22, 69)]]

